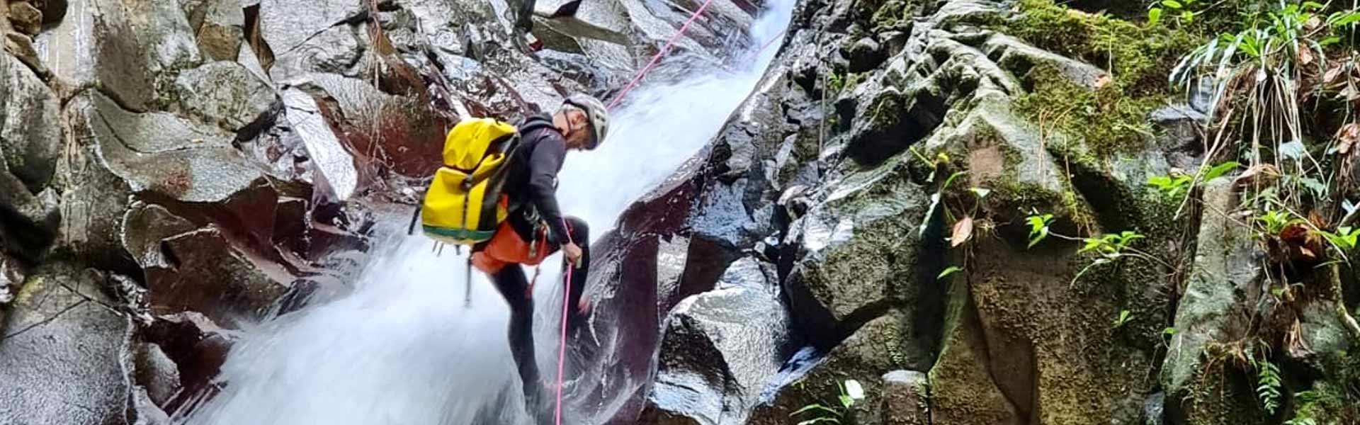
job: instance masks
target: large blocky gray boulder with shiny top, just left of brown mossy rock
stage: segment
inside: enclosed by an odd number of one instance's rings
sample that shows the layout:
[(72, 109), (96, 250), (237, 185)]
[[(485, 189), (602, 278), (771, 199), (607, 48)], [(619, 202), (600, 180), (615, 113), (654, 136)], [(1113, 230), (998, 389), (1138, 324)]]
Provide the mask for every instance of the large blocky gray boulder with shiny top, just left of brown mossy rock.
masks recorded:
[(798, 260), (785, 287), (796, 320), (817, 345), (835, 345), (892, 305), (922, 304), (918, 285), (926, 282), (914, 278), (926, 267), (918, 249), (930, 202), (906, 161), (847, 174), (792, 225)]

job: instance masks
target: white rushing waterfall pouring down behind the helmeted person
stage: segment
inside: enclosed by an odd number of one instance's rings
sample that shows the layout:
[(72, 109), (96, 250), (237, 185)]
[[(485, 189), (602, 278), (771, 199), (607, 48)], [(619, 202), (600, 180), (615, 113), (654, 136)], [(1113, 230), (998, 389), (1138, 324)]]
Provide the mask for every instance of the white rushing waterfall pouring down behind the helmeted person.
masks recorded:
[[(558, 198), (594, 236), (635, 198), (703, 147), (772, 60), (794, 0), (771, 0), (751, 29), (738, 69), (692, 69), (680, 82), (643, 84), (615, 112), (608, 143), (567, 158)], [(744, 63), (743, 63), (744, 61)], [(547, 105), (544, 105), (547, 106)], [(473, 274), (464, 305), (464, 259), (384, 223), (355, 287), (254, 328), (231, 350), (224, 388), (177, 424), (520, 424), (528, 422), (506, 342), (509, 309)], [(396, 227), (403, 229), (397, 230)], [(548, 259), (544, 264), (556, 264)], [(539, 365), (556, 376), (562, 289), (547, 272), (534, 289)], [(589, 377), (585, 377), (589, 379)], [(567, 406), (566, 409), (571, 409)]]

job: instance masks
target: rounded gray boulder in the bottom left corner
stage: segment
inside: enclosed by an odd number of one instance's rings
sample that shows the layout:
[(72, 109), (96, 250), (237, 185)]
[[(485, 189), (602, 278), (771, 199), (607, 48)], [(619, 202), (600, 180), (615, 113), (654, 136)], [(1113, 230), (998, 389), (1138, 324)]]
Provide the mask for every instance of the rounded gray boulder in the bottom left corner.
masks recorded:
[(0, 342), (0, 418), (125, 424), (132, 323), (105, 308), (103, 277), (50, 263), (24, 282)]

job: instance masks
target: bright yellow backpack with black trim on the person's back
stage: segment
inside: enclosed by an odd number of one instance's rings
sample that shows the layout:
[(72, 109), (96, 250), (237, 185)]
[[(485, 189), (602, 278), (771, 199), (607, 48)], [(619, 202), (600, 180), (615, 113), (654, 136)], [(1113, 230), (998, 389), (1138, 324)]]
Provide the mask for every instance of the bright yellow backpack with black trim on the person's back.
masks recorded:
[(443, 166), (435, 172), (418, 212), (424, 234), (453, 245), (491, 240), (509, 215), (500, 189), (518, 143), (515, 127), (494, 119), (466, 119), (454, 125), (443, 142)]

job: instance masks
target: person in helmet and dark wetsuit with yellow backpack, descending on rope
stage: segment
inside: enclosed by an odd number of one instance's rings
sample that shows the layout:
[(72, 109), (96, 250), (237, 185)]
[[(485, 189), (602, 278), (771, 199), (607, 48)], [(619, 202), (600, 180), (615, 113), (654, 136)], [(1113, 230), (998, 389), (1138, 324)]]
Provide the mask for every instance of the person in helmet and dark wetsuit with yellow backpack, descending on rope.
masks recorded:
[(427, 236), (472, 247), (471, 266), (486, 272), (510, 305), (510, 353), (534, 415), (551, 414), (552, 400), (534, 362), (533, 285), (522, 266), (562, 251), (563, 270), (571, 267), (568, 305), (575, 306), (567, 324), (579, 326), (589, 311), (581, 293), (590, 233), (583, 221), (562, 215), (558, 172), (567, 151), (598, 147), (608, 123), (604, 104), (588, 94), (571, 95), (556, 113), (530, 116), (517, 127), (462, 120), (445, 140), (443, 166), (419, 210)]

